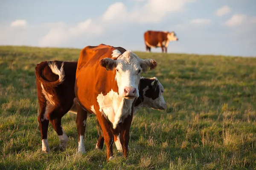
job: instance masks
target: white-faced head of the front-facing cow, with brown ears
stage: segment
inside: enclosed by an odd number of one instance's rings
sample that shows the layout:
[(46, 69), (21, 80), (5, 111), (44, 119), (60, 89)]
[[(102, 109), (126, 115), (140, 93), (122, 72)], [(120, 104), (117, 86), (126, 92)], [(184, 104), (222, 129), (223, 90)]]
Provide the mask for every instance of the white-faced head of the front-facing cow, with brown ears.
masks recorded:
[(126, 99), (134, 99), (139, 97), (138, 86), (140, 83), (140, 74), (153, 69), (157, 66), (157, 62), (153, 59), (140, 59), (132, 51), (125, 51), (122, 55), (117, 50), (113, 51), (113, 58), (101, 59), (100, 64), (108, 70), (115, 70), (116, 82), (118, 86), (118, 94)]

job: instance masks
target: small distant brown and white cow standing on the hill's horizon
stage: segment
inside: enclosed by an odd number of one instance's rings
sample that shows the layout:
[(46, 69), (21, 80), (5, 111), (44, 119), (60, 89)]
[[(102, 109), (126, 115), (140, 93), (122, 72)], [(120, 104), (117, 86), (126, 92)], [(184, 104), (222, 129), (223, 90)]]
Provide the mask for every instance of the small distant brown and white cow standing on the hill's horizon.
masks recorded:
[(161, 47), (162, 52), (163, 48), (165, 48), (165, 52), (167, 53), (167, 47), (170, 41), (179, 40), (176, 37), (174, 31), (146, 31), (144, 33), (144, 42), (146, 45), (146, 51), (151, 51), (151, 48)]

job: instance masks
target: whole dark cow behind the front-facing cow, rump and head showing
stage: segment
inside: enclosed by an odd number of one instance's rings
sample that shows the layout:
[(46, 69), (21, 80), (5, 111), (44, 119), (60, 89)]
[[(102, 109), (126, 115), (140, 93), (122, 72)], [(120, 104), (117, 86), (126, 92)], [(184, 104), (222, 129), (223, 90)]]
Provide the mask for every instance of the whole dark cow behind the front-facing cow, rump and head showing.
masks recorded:
[[(83, 51), (81, 51), (81, 55)], [(41, 129), (42, 151), (49, 152), (49, 144), (47, 140), (47, 130), (49, 120), (60, 139), (60, 149), (67, 146), (67, 135), (61, 128), (61, 118), (68, 112), (76, 113), (75, 98), (75, 79), (76, 79), (77, 62), (63, 61), (44, 61), (39, 63), (35, 68), (38, 102), (40, 113), (38, 122)], [(134, 111), (141, 107), (153, 109), (165, 109), (166, 102), (163, 99), (163, 85), (156, 77), (146, 79), (140, 78), (140, 97), (136, 100)], [(49, 114), (49, 116), (47, 116)], [(55, 116), (50, 116), (54, 114)], [(49, 117), (49, 118), (48, 118)], [(96, 119), (96, 122), (97, 119)], [(97, 123), (97, 125), (99, 125)], [(99, 130), (99, 128), (98, 128)], [(98, 148), (103, 147), (103, 133), (100, 134)], [(98, 143), (99, 143), (98, 142)], [(119, 141), (120, 142), (120, 141)], [(116, 147), (120, 144), (116, 144)], [(117, 148), (120, 150), (119, 148)]]

